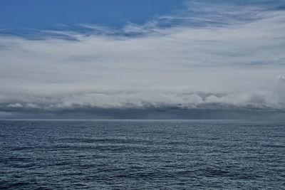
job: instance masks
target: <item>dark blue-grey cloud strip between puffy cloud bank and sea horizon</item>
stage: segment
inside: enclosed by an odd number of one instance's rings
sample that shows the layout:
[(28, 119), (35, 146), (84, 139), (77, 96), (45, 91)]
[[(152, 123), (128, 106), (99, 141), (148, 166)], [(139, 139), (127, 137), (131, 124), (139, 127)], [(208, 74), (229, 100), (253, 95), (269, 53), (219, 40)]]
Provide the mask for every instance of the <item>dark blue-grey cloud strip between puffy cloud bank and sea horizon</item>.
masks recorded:
[(57, 112), (0, 112), (0, 119), (91, 119), (91, 120), (284, 120), (285, 112), (265, 110), (200, 110), (177, 107), (145, 109), (86, 108)]

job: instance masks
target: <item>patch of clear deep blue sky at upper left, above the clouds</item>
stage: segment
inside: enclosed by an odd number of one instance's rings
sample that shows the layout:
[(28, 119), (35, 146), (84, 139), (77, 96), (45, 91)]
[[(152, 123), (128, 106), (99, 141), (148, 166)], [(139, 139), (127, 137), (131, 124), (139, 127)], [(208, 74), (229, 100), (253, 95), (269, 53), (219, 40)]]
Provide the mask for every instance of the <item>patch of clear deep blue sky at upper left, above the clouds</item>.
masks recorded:
[(128, 22), (144, 23), (155, 16), (175, 14), (183, 8), (181, 0), (105, 0), (105, 1), (9, 1), (0, 2), (1, 28), (58, 29), (92, 23), (120, 28)]

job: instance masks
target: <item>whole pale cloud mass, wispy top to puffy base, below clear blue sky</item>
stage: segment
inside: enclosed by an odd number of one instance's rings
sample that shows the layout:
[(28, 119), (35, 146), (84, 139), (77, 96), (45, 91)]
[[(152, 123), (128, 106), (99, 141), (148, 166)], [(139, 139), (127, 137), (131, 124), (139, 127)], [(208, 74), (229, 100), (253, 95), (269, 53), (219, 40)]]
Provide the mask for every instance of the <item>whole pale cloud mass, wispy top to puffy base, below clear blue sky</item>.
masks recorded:
[(118, 30), (0, 36), (0, 110), (284, 110), (284, 11), (187, 7)]

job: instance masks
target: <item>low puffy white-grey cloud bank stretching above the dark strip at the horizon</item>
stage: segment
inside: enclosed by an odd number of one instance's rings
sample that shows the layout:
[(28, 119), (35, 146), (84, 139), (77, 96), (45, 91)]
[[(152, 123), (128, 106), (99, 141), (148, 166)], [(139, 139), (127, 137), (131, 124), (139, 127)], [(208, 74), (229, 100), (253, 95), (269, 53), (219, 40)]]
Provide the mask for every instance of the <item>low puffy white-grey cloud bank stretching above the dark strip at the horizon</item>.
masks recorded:
[[(6, 98), (8, 99), (8, 97)], [(147, 109), (150, 107), (176, 107), (201, 110), (272, 110), (285, 109), (282, 93), (83, 93), (37, 97), (19, 95), (2, 100), (1, 111), (62, 111), (90, 109)]]

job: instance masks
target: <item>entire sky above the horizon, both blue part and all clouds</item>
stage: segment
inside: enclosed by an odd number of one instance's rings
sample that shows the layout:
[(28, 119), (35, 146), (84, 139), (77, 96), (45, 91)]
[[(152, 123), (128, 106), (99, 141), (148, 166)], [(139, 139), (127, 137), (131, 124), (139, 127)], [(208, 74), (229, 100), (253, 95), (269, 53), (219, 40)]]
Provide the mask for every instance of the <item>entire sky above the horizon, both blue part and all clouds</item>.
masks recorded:
[(0, 118), (284, 119), (285, 1), (0, 1)]

